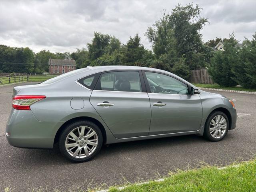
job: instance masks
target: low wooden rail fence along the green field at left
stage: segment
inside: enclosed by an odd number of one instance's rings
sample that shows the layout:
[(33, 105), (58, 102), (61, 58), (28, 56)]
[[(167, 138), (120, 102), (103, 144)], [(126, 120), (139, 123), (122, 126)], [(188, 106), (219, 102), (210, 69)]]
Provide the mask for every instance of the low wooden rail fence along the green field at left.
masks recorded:
[(5, 76), (0, 76), (0, 85), (25, 81), (43, 82), (53, 77), (56, 77), (56, 75), (9, 74)]

